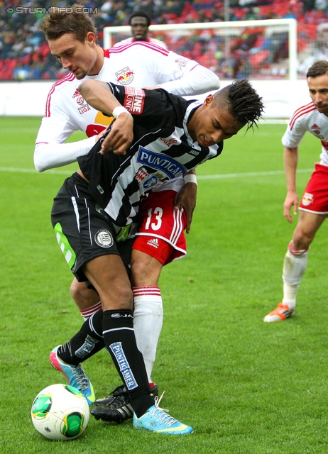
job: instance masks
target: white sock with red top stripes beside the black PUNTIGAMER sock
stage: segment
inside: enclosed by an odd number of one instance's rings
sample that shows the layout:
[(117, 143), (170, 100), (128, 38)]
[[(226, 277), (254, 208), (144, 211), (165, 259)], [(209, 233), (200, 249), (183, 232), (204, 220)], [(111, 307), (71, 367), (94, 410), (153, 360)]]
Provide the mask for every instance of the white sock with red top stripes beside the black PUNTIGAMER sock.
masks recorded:
[(155, 362), (158, 338), (163, 325), (163, 303), (158, 287), (133, 287), (133, 328), (136, 343), (145, 361), (148, 380)]

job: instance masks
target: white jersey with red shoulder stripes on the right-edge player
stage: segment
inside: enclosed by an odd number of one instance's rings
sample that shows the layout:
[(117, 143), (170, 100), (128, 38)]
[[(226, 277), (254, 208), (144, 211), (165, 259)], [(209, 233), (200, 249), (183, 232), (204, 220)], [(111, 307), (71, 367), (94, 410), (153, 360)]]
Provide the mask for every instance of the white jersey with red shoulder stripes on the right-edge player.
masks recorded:
[(295, 111), (287, 131), (281, 139), (283, 146), (287, 148), (297, 147), (307, 131), (321, 141), (320, 164), (328, 166), (328, 117), (318, 112), (312, 102)]

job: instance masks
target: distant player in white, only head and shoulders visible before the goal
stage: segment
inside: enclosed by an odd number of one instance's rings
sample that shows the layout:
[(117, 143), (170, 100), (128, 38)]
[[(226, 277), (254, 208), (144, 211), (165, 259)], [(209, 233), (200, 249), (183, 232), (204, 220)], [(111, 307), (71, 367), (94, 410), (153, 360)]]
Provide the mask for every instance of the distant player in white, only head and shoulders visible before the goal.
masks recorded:
[(151, 18), (145, 11), (134, 11), (129, 17), (129, 26), (131, 26), (131, 38), (119, 41), (113, 47), (116, 48), (119, 45), (132, 44), (136, 41), (146, 41), (147, 43), (159, 45), (160, 48), (168, 50), (168, 46), (156, 38), (148, 37), (148, 28), (151, 25)]

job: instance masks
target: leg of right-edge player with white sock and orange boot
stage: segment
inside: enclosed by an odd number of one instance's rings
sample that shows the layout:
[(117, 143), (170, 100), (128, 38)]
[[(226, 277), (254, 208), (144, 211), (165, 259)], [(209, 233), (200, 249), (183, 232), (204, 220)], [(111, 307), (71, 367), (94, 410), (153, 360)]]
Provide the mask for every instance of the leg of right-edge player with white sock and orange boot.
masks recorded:
[(326, 215), (300, 211), (300, 218), (288, 245), (283, 264), (283, 301), (264, 317), (264, 321), (282, 321), (295, 314), (297, 291), (307, 267), (310, 244)]

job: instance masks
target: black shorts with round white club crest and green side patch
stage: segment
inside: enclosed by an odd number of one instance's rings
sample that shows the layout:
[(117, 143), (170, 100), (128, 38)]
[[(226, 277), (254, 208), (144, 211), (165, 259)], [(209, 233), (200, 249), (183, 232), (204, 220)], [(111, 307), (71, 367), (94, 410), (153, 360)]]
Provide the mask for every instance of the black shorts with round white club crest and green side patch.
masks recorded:
[(116, 241), (121, 228), (92, 199), (87, 182), (77, 173), (55, 196), (51, 221), (65, 260), (79, 282), (87, 281), (82, 265), (100, 255), (120, 255), (130, 277), (134, 239)]

